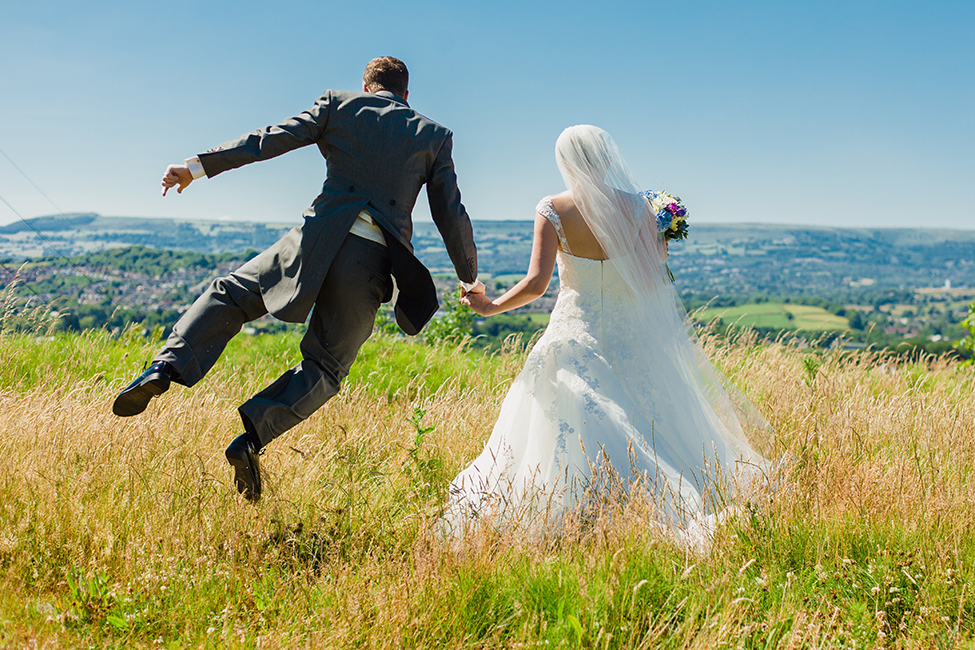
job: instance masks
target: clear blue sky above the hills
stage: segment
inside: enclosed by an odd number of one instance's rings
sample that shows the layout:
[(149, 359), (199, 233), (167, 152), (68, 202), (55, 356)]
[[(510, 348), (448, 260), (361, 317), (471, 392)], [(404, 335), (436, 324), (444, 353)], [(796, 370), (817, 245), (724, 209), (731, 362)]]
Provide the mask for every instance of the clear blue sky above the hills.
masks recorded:
[[(3, 0), (0, 149), (65, 212), (298, 222), (314, 147), (159, 179), (387, 54), (453, 129), (474, 219), (530, 219), (591, 123), (694, 220), (975, 228), (972, 0)], [(0, 196), (56, 212), (3, 157)]]

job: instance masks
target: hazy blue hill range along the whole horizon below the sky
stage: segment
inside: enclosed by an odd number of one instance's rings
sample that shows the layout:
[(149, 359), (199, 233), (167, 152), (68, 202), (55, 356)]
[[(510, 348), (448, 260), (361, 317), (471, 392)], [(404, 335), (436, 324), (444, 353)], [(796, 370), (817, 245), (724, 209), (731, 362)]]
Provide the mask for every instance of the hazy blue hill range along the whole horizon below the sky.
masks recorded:
[[(0, 259), (54, 258), (124, 246), (243, 253), (266, 248), (293, 226), (52, 215), (0, 228)], [(508, 276), (528, 268), (532, 222), (476, 221), (474, 229), (482, 273)], [(413, 244), (434, 273), (453, 274), (434, 224), (417, 223)], [(671, 247), (670, 266), (685, 294), (832, 294), (946, 283), (975, 287), (975, 230), (694, 223), (690, 239)]]

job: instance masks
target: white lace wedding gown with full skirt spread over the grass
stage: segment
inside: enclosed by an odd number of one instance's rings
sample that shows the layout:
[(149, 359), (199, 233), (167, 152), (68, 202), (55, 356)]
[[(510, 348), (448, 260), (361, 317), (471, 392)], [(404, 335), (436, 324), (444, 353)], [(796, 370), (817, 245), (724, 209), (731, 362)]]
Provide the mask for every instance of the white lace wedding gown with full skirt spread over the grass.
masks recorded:
[(765, 460), (686, 321), (657, 324), (654, 314), (677, 313), (673, 286), (635, 295), (613, 259), (572, 254), (549, 198), (536, 210), (558, 234), (559, 295), (484, 451), (451, 482), (444, 521), (455, 534), (485, 518), (553, 522), (639, 485), (657, 523), (700, 546), (715, 497)]

